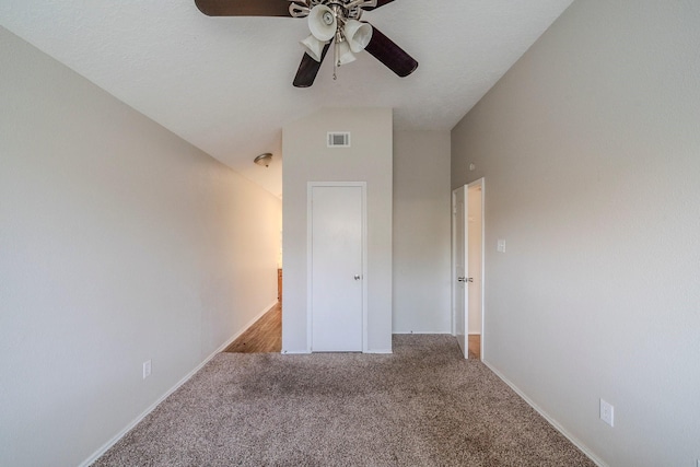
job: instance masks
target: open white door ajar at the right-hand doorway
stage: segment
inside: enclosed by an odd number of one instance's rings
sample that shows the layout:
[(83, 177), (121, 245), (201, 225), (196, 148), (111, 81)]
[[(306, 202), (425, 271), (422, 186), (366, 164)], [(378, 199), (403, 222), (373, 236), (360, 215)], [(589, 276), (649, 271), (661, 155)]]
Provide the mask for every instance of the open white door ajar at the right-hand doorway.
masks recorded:
[(459, 349), (469, 358), (467, 349), (467, 189), (459, 187), (452, 192), (452, 334), (457, 338)]

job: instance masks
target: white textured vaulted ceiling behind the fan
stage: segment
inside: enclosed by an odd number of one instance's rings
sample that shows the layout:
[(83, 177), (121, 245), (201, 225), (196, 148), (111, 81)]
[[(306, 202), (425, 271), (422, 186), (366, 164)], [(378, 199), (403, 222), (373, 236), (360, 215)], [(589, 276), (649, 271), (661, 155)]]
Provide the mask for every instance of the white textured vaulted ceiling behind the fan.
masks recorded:
[[(282, 0), (281, 0), (282, 1)], [(395, 129), (450, 130), (572, 0), (396, 0), (371, 22), (416, 58), (369, 54), (292, 86), (304, 20), (209, 17), (194, 0), (2, 0), (0, 24), (281, 196), (282, 126), (320, 107), (394, 108)], [(276, 155), (269, 168), (253, 164)]]

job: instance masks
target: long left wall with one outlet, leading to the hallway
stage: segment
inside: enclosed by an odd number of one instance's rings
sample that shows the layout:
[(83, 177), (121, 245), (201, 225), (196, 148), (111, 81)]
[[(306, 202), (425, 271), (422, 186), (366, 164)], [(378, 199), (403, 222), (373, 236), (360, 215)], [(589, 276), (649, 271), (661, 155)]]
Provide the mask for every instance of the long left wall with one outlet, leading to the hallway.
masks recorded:
[(0, 62), (0, 465), (74, 466), (275, 302), (281, 203), (2, 28)]

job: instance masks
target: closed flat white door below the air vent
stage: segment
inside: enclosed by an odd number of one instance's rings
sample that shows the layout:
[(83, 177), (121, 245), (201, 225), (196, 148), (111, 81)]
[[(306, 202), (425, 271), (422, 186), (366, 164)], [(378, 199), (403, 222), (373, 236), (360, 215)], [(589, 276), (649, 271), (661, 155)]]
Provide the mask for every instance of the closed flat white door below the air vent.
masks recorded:
[(310, 185), (311, 349), (362, 351), (363, 185)]

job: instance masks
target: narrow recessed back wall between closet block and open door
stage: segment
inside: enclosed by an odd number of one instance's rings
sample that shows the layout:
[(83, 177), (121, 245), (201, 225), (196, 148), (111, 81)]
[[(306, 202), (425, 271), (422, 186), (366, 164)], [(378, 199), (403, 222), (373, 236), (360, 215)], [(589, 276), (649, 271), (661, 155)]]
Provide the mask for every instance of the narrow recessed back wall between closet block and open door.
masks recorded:
[(394, 133), (394, 332), (450, 332), (450, 131)]

